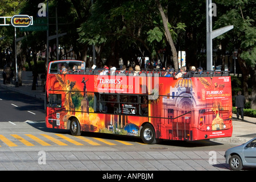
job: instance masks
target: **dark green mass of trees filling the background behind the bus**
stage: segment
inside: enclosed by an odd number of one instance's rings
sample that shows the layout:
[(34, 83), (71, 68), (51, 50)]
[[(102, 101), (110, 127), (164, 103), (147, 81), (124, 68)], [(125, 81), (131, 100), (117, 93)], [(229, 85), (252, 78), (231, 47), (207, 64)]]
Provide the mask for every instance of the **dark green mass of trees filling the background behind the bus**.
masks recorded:
[[(39, 3), (47, 5), (42, 0), (2, 0), (0, 16), (27, 14), (36, 19)], [(226, 65), (231, 73), (236, 69), (232, 95), (241, 89), (246, 107), (256, 109), (255, 1), (213, 3), (217, 11), (212, 17), (213, 30), (234, 26), (213, 39), (213, 64), (222, 65), (222, 70)], [(59, 38), (58, 46), (56, 39), (49, 40), (49, 61), (57, 59), (58, 50), (59, 59), (84, 60), (86, 67), (92, 67), (94, 46), (97, 67), (106, 64), (119, 68), (119, 60), (134, 67), (142, 57), (144, 68), (144, 58), (149, 57), (150, 68), (159, 61), (163, 67), (172, 65), (178, 69), (177, 52), (185, 51), (187, 68), (207, 68), (204, 0), (49, 0), (48, 4), (49, 36), (56, 35), (56, 16), (57, 33), (67, 33)], [(46, 72), (46, 31), (16, 29), (17, 38), (22, 38), (16, 43), (19, 72)], [(0, 26), (0, 38), (0, 67), (10, 64), (14, 71), (14, 27)]]

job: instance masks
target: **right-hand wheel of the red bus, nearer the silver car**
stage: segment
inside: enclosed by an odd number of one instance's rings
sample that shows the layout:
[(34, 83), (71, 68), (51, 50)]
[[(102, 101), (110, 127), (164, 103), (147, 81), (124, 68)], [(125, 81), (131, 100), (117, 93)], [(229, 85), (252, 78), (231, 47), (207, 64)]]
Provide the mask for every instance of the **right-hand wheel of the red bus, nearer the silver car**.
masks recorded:
[(155, 130), (154, 127), (150, 124), (146, 124), (141, 129), (141, 139), (146, 144), (154, 144), (156, 143), (155, 139)]

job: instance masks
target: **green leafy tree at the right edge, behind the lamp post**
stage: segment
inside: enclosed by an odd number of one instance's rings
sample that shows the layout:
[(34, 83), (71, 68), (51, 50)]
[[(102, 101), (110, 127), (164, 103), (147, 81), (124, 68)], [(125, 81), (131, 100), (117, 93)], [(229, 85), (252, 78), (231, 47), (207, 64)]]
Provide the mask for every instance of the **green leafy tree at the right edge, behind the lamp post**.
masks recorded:
[(227, 47), (233, 52), (234, 48), (238, 49), (237, 60), (242, 72), (242, 89), (246, 102), (249, 101), (249, 76), (252, 85), (251, 108), (256, 109), (256, 27), (255, 27), (255, 3), (253, 1), (217, 1), (225, 7), (226, 13), (216, 21), (216, 27), (223, 27), (229, 24), (234, 25), (231, 34), (224, 34), (219, 39), (229, 37)]

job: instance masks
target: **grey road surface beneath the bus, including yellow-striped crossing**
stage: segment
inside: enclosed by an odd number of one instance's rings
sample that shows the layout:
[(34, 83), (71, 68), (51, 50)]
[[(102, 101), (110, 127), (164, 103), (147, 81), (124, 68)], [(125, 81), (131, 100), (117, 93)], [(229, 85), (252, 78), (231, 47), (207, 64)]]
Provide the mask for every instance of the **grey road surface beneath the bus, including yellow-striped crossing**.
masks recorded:
[(226, 171), (223, 155), (234, 146), (211, 140), (148, 145), (140, 138), (86, 132), (75, 137), (46, 128), (44, 101), (1, 88), (0, 111), (0, 170)]

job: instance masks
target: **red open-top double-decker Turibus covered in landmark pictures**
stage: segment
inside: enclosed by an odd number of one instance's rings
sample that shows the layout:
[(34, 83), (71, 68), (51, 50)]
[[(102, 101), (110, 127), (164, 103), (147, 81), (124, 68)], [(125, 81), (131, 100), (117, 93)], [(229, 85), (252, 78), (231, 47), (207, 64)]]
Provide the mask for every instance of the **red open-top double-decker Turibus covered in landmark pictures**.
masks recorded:
[[(231, 79), (226, 72), (164, 77), (163, 71), (86, 69), (84, 61), (52, 61), (46, 81), (46, 126), (156, 139), (232, 136)], [(193, 75), (193, 76), (192, 76)]]

